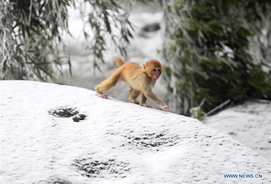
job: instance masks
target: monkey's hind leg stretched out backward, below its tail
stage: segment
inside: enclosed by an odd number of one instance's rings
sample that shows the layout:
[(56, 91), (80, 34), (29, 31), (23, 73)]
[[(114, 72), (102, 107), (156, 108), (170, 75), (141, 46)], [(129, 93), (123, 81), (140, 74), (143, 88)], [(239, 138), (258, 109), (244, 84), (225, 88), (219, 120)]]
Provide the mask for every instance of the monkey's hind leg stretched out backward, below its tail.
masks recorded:
[(104, 94), (103, 92), (110, 90), (111, 87), (114, 87), (119, 81), (120, 76), (121, 76), (121, 71), (117, 70), (108, 79), (102, 81), (100, 84), (95, 86), (97, 95), (101, 98), (108, 99), (108, 95)]

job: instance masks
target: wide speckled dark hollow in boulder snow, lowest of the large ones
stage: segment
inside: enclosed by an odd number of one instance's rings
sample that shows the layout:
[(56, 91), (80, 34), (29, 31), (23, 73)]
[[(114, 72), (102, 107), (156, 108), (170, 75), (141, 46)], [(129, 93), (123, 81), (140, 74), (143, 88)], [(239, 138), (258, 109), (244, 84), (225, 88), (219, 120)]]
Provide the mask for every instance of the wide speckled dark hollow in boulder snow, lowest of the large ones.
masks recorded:
[(120, 177), (124, 178), (126, 171), (129, 171), (128, 163), (118, 162), (115, 159), (98, 161), (92, 158), (76, 159), (73, 165), (82, 176), (89, 178)]

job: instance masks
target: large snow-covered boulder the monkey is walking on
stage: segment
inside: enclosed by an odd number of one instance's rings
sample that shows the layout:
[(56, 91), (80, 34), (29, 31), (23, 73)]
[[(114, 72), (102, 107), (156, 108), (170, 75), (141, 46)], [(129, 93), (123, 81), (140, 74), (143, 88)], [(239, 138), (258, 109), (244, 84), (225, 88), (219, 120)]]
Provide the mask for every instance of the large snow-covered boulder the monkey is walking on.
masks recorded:
[[(56, 117), (77, 113), (86, 118)], [(0, 170), (1, 183), (269, 183), (271, 173), (196, 119), (34, 81), (1, 81)]]

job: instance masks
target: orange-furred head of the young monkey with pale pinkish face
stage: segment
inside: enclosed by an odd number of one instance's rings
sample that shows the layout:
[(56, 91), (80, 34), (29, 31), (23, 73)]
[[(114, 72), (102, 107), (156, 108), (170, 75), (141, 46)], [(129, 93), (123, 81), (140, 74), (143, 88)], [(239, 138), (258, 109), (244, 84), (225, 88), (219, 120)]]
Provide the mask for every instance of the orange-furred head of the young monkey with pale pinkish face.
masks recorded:
[(143, 64), (143, 71), (151, 78), (151, 80), (157, 80), (162, 73), (161, 63), (157, 60), (148, 60)]

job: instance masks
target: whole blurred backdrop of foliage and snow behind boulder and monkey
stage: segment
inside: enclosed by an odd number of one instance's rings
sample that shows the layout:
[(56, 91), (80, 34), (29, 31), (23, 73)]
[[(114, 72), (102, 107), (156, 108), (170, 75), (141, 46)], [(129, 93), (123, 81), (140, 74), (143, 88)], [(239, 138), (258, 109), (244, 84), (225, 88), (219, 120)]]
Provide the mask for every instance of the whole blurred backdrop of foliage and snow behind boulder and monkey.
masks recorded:
[[(271, 159), (270, 0), (0, 0), (0, 9), (1, 80), (94, 90), (116, 56), (157, 59), (153, 90), (170, 112), (257, 140), (251, 147)], [(107, 94), (128, 102), (128, 91), (120, 82)]]

